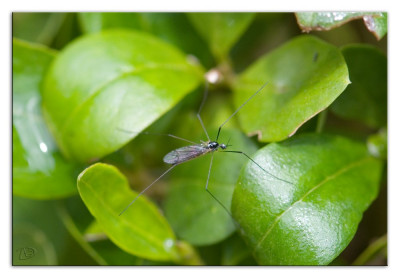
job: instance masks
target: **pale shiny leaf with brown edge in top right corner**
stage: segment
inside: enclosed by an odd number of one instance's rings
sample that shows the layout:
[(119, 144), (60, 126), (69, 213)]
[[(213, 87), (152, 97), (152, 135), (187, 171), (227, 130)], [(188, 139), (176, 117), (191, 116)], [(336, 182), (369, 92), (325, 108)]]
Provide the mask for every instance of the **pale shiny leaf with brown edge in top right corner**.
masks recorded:
[(387, 13), (381, 12), (301, 12), (296, 18), (304, 32), (330, 30), (359, 18), (378, 40), (387, 32)]

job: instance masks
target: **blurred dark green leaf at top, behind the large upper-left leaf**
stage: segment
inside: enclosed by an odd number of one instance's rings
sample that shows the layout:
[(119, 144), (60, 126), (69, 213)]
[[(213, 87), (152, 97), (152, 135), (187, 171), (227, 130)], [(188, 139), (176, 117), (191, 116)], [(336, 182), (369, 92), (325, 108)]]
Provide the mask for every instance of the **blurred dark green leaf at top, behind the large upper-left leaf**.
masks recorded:
[(195, 55), (205, 66), (213, 63), (207, 44), (184, 13), (79, 13), (78, 17), (86, 33), (112, 28), (141, 30)]

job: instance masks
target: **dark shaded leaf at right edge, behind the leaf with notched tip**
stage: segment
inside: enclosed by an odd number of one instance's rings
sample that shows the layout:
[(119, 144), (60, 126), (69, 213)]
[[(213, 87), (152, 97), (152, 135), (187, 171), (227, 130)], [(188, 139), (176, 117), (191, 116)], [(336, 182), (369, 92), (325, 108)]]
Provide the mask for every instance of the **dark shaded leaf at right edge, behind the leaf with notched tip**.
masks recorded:
[(342, 49), (351, 84), (332, 111), (371, 127), (387, 124), (387, 58), (377, 48), (356, 44)]

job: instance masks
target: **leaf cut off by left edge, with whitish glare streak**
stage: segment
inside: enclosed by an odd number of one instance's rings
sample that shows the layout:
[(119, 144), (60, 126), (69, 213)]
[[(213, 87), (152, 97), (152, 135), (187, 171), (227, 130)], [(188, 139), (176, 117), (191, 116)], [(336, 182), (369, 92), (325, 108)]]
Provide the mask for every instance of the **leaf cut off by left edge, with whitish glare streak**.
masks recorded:
[(57, 150), (41, 111), (39, 84), (55, 52), (13, 40), (13, 194), (54, 199), (75, 194), (76, 165)]

